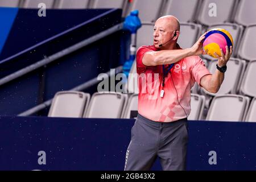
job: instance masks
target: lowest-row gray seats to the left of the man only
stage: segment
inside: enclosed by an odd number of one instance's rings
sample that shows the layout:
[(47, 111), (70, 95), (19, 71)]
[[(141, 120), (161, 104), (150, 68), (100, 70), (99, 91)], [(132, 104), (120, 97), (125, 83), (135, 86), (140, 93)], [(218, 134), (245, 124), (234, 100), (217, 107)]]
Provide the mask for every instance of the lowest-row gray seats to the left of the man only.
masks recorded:
[(138, 94), (97, 92), (92, 95), (76, 91), (57, 92), (48, 117), (130, 118), (138, 110)]

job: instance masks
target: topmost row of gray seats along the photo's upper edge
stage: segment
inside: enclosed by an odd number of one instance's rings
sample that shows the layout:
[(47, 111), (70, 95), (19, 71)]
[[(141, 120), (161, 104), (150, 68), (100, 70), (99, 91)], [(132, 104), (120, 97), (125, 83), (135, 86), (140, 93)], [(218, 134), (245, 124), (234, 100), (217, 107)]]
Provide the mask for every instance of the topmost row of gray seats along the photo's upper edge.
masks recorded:
[(142, 22), (155, 22), (162, 15), (172, 14), (180, 22), (198, 22), (206, 26), (234, 22), (249, 26), (256, 23), (254, 0), (1, 0), (0, 6), (38, 8), (39, 3), (48, 8), (121, 8), (126, 16), (138, 9)]

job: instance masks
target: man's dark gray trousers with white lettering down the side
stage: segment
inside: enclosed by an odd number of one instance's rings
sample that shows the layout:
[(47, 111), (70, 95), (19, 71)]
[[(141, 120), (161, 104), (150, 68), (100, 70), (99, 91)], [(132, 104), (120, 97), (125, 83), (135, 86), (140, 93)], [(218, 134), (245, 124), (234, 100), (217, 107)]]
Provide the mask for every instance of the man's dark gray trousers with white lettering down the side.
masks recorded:
[(157, 156), (164, 171), (185, 170), (187, 141), (187, 118), (167, 123), (138, 114), (131, 129), (125, 171), (150, 170)]

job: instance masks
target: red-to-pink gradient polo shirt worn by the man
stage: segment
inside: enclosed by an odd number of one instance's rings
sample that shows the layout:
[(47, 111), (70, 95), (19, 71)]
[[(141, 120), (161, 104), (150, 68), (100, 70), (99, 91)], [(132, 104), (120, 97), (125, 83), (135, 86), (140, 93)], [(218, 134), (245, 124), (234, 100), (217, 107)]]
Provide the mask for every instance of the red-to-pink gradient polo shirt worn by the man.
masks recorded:
[[(149, 51), (158, 51), (158, 49), (154, 46), (142, 46), (137, 51), (138, 113), (157, 122), (172, 122), (187, 118), (191, 111), (191, 88), (195, 81), (200, 85), (201, 77), (210, 72), (199, 56), (185, 57), (177, 61), (166, 74), (163, 87), (163, 66), (147, 67), (142, 63), (144, 54)], [(167, 72), (168, 65), (164, 66)], [(164, 90), (163, 97), (160, 97), (161, 90)], [(177, 96), (185, 112), (179, 105)]]

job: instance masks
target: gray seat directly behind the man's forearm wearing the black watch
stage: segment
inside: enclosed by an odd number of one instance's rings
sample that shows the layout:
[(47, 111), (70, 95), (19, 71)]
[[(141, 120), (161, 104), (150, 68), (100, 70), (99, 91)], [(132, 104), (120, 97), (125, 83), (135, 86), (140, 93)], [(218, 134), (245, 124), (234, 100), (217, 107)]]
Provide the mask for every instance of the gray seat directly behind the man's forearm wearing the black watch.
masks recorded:
[[(217, 59), (212, 59), (209, 64), (209, 71), (210, 73), (215, 73), (216, 69), (216, 64), (217, 64)], [(225, 78), (224, 81), (221, 84), (220, 90), (218, 90), (217, 93), (210, 93), (204, 88), (202, 88), (203, 92), (206, 94), (209, 94), (210, 96), (216, 96), (219, 94), (227, 94), (227, 93), (232, 93), (236, 94), (237, 93), (237, 87), (238, 84), (241, 80), (241, 76), (243, 75), (244, 69), (245, 69), (245, 61), (236, 59), (236, 58), (230, 58), (228, 63), (227, 63), (227, 71), (225, 73)]]

